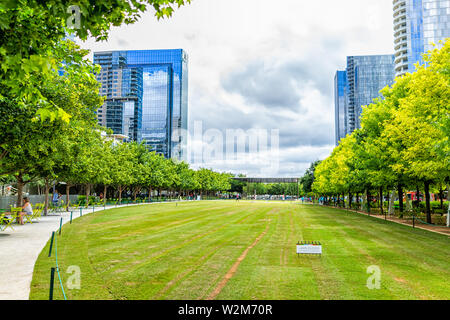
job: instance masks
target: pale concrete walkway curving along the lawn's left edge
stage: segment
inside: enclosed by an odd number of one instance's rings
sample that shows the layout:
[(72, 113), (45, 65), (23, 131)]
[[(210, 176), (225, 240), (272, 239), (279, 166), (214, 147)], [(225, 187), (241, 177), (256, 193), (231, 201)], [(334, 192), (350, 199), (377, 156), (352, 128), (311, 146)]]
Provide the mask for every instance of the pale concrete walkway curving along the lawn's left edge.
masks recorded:
[[(107, 206), (106, 210), (113, 208), (116, 206)], [(99, 207), (95, 212), (102, 210), (104, 208)], [(85, 208), (83, 216), (92, 212), (92, 208)], [(13, 224), (14, 230), (0, 231), (0, 300), (28, 300), (34, 264), (52, 231), (59, 229), (61, 217), (63, 224), (69, 222), (70, 212), (42, 217), (33, 224)], [(74, 211), (72, 220), (79, 217), (80, 210)]]

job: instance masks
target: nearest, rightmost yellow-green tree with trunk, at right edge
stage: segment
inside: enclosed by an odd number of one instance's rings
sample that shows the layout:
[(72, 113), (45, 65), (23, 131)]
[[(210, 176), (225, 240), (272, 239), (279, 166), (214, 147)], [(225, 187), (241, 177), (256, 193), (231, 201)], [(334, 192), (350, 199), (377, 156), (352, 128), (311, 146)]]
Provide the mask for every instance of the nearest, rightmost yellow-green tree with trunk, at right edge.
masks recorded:
[(450, 176), (450, 41), (424, 59), (429, 66), (417, 65), (409, 76), (408, 94), (383, 134), (388, 144), (400, 146), (393, 155), (394, 168), (423, 183), (427, 222), (431, 223), (430, 185)]

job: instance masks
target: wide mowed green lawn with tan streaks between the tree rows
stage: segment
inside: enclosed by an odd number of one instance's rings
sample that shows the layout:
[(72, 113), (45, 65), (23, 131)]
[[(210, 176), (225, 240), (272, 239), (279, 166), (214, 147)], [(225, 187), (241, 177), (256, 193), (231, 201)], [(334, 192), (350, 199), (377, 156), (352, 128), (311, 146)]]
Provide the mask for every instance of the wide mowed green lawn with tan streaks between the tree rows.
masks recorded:
[[(297, 257), (299, 240), (320, 241), (323, 255)], [(450, 299), (449, 244), (343, 210), (192, 202), (83, 216), (63, 227), (58, 261), (63, 283), (69, 266), (81, 268), (68, 299)], [(48, 299), (48, 246), (30, 299)], [(371, 265), (381, 269), (378, 290), (366, 286)]]

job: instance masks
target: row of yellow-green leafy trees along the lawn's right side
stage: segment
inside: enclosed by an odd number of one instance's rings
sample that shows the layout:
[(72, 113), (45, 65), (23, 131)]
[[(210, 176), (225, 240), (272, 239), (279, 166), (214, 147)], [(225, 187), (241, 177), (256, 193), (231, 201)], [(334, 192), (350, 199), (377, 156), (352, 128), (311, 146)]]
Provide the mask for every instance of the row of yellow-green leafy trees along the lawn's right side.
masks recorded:
[(351, 206), (354, 195), (368, 199), (376, 190), (383, 210), (384, 192), (395, 189), (403, 212), (405, 190), (422, 190), (431, 223), (430, 191), (437, 190), (442, 201), (450, 184), (450, 39), (424, 60), (363, 108), (361, 129), (316, 167), (316, 194), (348, 194)]

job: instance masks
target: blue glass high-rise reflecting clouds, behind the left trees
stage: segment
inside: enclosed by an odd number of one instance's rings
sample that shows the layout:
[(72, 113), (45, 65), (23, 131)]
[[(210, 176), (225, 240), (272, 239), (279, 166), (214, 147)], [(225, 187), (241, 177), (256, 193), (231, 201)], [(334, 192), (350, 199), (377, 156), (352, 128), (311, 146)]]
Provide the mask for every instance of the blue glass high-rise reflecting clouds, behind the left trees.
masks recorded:
[(100, 125), (144, 142), (167, 158), (186, 159), (188, 56), (177, 50), (95, 52)]

